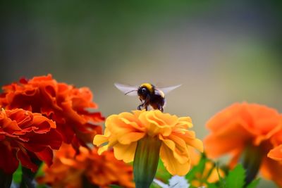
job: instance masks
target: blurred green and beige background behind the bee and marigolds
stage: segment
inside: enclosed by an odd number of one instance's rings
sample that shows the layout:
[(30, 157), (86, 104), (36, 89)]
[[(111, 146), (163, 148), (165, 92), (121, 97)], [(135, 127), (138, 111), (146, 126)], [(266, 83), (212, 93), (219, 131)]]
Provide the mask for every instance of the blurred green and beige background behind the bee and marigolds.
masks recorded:
[(165, 111), (190, 115), (202, 139), (236, 101), (282, 113), (281, 2), (1, 1), (0, 84), (51, 73), (90, 87), (104, 115), (139, 104), (114, 82), (183, 84)]

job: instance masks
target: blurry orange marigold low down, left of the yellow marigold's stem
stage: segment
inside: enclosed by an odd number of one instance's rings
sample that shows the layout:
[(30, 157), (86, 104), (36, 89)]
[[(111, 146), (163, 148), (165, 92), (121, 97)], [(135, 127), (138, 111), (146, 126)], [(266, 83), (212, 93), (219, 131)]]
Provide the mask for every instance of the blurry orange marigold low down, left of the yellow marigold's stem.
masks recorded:
[(96, 148), (90, 151), (80, 146), (80, 153), (75, 156), (75, 150), (63, 144), (56, 152), (54, 164), (51, 168), (45, 166), (44, 172), (44, 177), (39, 177), (38, 181), (54, 188), (83, 187), (85, 181), (102, 188), (110, 184), (134, 187), (132, 166), (116, 160), (113, 151), (99, 156)]

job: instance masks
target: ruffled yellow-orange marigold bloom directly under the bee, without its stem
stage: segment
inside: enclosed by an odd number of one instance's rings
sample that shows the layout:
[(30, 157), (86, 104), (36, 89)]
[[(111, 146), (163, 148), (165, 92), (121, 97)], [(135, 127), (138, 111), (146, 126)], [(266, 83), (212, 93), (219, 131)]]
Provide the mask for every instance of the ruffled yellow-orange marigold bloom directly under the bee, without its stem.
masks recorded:
[[(189, 117), (178, 118), (176, 115), (161, 111), (133, 111), (120, 113), (106, 118), (104, 135), (96, 135), (94, 144), (102, 153), (114, 148), (114, 154), (126, 163), (133, 161), (137, 142), (152, 138), (160, 142), (158, 155), (172, 175), (185, 175), (190, 170), (190, 147), (203, 151), (202, 142), (195, 138), (195, 132)], [(152, 139), (148, 139), (152, 143)], [(139, 143), (139, 142), (138, 142)]]

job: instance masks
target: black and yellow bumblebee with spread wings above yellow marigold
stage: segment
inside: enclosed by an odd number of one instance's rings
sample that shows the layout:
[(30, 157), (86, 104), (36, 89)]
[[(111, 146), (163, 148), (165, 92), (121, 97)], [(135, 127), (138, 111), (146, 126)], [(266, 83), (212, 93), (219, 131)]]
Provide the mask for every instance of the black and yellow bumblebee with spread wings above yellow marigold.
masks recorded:
[(171, 92), (173, 89), (180, 87), (181, 84), (171, 87), (157, 88), (153, 84), (144, 83), (139, 87), (133, 87), (125, 84), (114, 84), (121, 92), (128, 96), (139, 96), (141, 104), (137, 106), (138, 110), (145, 108), (148, 110), (148, 106), (152, 106), (154, 109), (159, 109), (164, 112), (164, 105), (166, 104), (164, 95)]

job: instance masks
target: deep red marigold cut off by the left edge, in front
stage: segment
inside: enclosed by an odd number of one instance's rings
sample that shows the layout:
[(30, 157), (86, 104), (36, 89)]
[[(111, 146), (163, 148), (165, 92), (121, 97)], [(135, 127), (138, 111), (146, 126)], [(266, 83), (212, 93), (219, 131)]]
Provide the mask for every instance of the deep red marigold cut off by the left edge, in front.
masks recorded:
[(0, 169), (5, 173), (13, 173), (18, 161), (35, 172), (34, 158), (51, 165), (52, 149), (59, 149), (61, 143), (56, 124), (41, 114), (23, 109), (0, 111)]

